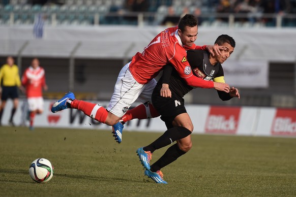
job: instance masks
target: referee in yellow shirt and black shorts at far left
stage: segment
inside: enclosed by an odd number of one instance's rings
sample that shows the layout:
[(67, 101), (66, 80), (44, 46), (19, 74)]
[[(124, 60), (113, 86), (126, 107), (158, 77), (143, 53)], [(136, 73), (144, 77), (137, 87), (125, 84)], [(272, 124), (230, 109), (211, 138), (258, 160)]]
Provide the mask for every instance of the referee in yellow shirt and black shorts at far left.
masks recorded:
[[(0, 92), (1, 95), (1, 106), (0, 106), (0, 125), (2, 120), (3, 110), (6, 105), (8, 98), (13, 100), (13, 108), (9, 119), (9, 124), (14, 126), (13, 116), (18, 107), (18, 87), (21, 87), (20, 77), (18, 74), (18, 67), (14, 64), (14, 59), (9, 56), (7, 57), (7, 63), (0, 69)], [(1, 91), (2, 90), (2, 91)]]

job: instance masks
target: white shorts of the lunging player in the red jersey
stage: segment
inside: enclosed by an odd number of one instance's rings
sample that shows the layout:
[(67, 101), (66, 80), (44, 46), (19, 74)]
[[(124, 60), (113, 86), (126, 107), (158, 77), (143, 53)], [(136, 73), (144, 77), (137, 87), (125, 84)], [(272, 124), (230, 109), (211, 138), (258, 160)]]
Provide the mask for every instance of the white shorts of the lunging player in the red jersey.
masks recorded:
[(153, 79), (146, 84), (139, 84), (130, 72), (130, 63), (127, 63), (119, 73), (113, 95), (107, 108), (109, 112), (117, 117), (122, 117), (137, 98), (142, 103), (151, 103), (151, 95), (157, 83)]

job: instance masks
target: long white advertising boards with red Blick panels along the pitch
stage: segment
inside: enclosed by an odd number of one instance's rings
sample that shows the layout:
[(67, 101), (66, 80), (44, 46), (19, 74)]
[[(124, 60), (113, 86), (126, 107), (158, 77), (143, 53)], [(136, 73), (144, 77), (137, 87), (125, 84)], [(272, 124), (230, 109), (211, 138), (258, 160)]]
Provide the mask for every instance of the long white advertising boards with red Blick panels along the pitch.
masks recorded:
[[(53, 114), (50, 111), (53, 102), (52, 100), (45, 101), (44, 113), (36, 116), (36, 127), (110, 129), (111, 131), (110, 126), (99, 123), (78, 110), (70, 109)], [(93, 103), (99, 103), (104, 107), (108, 105), (108, 102)], [(20, 101), (20, 106), (21, 108), (18, 108), (14, 117), (16, 125), (25, 121), (27, 116), (25, 100)], [(4, 110), (3, 125), (8, 125), (11, 108), (12, 102), (8, 101)], [(186, 108), (192, 118), (195, 134), (296, 137), (295, 109), (209, 105), (187, 105)], [(166, 127), (160, 118), (153, 118), (132, 120), (125, 125), (125, 130), (164, 132)]]

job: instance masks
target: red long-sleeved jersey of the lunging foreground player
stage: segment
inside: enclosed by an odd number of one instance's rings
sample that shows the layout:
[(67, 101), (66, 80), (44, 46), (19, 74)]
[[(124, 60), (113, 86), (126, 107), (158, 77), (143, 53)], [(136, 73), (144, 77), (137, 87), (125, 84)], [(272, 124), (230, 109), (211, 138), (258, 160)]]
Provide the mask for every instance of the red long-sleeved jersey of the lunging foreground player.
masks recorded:
[[(169, 27), (160, 32), (142, 53), (133, 56), (129, 69), (135, 80), (146, 84), (155, 78), (164, 65), (171, 63), (179, 75), (194, 87), (213, 88), (212, 81), (200, 80), (194, 76), (187, 61), (187, 53), (177, 34), (178, 27)], [(205, 46), (186, 47), (186, 49), (205, 49)]]

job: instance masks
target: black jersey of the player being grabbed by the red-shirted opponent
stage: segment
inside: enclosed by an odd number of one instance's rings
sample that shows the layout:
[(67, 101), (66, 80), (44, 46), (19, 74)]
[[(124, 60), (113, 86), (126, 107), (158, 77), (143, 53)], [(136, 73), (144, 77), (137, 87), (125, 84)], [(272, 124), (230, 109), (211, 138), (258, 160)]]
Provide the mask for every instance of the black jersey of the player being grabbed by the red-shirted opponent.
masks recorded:
[[(187, 61), (190, 64), (193, 74), (207, 81), (224, 76), (222, 65), (219, 62), (212, 65), (209, 60), (209, 55), (209, 52), (203, 50), (187, 51)], [(170, 73), (171, 75), (169, 76)], [(193, 89), (193, 87), (186, 84), (171, 65), (165, 67), (163, 76), (157, 83), (156, 88), (160, 89), (163, 83), (168, 83), (172, 94), (179, 97), (183, 97)]]

